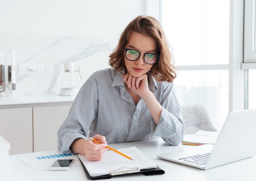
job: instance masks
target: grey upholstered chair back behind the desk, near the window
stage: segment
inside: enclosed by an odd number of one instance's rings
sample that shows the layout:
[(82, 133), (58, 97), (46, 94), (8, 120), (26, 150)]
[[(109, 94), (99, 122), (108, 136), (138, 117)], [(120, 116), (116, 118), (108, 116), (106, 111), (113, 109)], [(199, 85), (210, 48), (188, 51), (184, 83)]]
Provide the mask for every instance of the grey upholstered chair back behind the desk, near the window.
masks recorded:
[(181, 106), (181, 114), (186, 128), (185, 135), (194, 134), (198, 130), (218, 131), (202, 105)]

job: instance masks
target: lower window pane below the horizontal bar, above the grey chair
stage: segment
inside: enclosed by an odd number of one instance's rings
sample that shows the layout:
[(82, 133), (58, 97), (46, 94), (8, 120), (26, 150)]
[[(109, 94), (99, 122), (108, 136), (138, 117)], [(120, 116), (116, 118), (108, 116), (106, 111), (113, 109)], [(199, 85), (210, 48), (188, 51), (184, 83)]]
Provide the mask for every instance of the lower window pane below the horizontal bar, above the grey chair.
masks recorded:
[(204, 105), (214, 126), (222, 127), (228, 113), (228, 70), (180, 70), (174, 86), (181, 105)]

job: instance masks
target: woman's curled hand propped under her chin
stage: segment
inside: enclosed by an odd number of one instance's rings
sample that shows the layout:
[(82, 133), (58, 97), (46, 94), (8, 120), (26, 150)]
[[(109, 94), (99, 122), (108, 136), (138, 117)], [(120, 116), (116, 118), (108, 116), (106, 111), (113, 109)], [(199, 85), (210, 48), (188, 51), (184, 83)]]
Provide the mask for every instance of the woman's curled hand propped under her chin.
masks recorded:
[(150, 91), (148, 89), (148, 76), (143, 74), (140, 77), (133, 77), (130, 73), (123, 75), (124, 82), (132, 89), (136, 94), (142, 97), (143, 94)]

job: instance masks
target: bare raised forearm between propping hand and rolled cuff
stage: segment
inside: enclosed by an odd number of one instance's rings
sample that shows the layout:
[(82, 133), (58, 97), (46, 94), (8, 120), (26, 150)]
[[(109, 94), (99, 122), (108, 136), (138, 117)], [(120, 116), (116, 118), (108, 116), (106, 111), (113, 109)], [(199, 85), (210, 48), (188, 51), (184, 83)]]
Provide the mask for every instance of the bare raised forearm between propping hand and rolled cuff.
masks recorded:
[(147, 104), (147, 107), (153, 117), (153, 120), (157, 125), (162, 111), (161, 104), (158, 103), (157, 99), (155, 98), (151, 91), (148, 91), (147, 93), (143, 94), (141, 98)]

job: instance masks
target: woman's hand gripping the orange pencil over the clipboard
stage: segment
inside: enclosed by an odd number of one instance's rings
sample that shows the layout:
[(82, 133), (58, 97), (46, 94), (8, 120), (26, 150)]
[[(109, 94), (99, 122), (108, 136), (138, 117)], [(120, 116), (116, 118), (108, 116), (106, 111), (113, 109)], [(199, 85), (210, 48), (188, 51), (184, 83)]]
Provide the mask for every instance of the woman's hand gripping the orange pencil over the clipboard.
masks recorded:
[(84, 142), (84, 154), (89, 161), (99, 161), (104, 157), (107, 142), (105, 136), (95, 135), (92, 138), (97, 139), (101, 144), (95, 143), (90, 139), (86, 139)]

